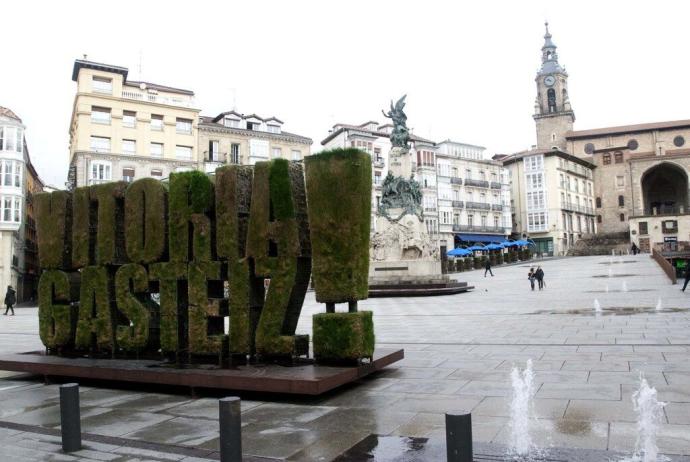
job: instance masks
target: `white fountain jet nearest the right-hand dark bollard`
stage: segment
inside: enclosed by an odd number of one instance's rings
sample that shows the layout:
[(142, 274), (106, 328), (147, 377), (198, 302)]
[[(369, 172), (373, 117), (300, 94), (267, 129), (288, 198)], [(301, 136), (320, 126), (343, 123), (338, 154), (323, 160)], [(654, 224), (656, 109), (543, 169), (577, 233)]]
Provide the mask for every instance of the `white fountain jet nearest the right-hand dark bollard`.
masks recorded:
[(532, 395), (534, 372), (532, 360), (527, 360), (523, 371), (514, 366), (510, 372), (512, 395), (510, 402), (510, 446), (509, 452), (518, 456), (529, 456), (535, 449), (530, 435), (532, 416)]

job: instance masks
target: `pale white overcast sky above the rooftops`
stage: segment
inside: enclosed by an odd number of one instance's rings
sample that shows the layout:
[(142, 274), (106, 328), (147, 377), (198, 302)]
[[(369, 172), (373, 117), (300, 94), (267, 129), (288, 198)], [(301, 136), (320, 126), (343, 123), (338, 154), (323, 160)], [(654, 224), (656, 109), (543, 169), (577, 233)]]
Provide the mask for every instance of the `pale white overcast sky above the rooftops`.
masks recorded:
[(415, 134), (509, 153), (535, 142), (545, 19), (585, 129), (690, 118), (688, 17), (680, 1), (11, 1), (0, 105), (23, 119), (34, 164), (59, 186), (85, 53), (193, 90), (204, 115), (233, 101), (275, 115), (313, 152), (334, 123), (383, 121), (407, 93)]

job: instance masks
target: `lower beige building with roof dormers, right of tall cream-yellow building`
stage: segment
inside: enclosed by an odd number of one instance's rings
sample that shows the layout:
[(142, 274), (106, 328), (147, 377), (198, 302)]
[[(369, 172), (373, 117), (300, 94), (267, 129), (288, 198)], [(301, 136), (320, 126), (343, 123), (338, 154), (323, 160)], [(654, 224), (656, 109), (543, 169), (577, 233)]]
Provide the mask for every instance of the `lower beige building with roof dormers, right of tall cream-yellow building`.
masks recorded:
[(277, 117), (236, 111), (202, 116), (198, 127), (200, 168), (213, 172), (223, 164), (249, 164), (270, 159), (303, 160), (312, 140), (283, 130)]

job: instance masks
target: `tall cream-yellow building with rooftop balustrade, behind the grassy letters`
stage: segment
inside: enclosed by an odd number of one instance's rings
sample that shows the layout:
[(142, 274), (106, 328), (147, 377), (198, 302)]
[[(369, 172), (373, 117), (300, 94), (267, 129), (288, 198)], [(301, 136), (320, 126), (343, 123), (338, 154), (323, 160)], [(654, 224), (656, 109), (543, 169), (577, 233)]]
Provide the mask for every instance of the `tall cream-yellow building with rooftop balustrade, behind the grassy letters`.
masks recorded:
[(194, 92), (128, 79), (128, 69), (77, 59), (70, 187), (166, 178), (199, 165)]

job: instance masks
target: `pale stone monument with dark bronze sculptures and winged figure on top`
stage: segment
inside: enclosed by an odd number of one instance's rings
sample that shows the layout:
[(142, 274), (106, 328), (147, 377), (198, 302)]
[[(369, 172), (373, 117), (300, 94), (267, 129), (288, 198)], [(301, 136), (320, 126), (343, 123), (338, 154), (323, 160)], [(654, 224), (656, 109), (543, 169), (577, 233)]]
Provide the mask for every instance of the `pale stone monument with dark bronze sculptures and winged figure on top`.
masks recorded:
[(414, 179), (408, 146), (410, 135), (407, 115), (403, 111), (405, 97), (395, 106), (391, 101), (388, 113), (383, 112), (384, 117), (393, 121), (392, 148), (376, 212), (377, 232), (371, 238), (370, 296), (420, 294), (422, 287), (431, 286), (449, 293), (446, 289), (459, 287), (441, 274), (438, 246), (429, 237), (424, 224), (421, 187)]

